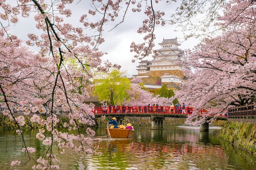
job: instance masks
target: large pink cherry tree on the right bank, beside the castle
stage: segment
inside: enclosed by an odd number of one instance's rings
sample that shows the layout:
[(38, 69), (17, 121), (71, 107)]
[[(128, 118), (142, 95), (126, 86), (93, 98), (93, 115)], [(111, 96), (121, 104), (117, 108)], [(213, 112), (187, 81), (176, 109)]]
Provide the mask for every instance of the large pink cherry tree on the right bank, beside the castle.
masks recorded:
[(210, 114), (218, 116), (229, 106), (256, 102), (255, 3), (231, 0), (216, 24), (223, 28), (222, 35), (205, 38), (187, 51), (189, 79), (175, 94), (195, 109), (208, 108), (208, 115), (200, 119), (193, 111), (188, 123), (209, 122)]

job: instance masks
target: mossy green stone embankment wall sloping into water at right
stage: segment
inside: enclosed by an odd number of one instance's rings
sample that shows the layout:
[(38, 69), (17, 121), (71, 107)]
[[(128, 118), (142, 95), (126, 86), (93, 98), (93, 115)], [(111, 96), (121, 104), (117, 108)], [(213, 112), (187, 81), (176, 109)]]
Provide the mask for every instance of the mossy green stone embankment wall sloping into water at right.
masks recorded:
[(220, 138), (248, 150), (256, 156), (256, 124), (251, 122), (224, 122)]

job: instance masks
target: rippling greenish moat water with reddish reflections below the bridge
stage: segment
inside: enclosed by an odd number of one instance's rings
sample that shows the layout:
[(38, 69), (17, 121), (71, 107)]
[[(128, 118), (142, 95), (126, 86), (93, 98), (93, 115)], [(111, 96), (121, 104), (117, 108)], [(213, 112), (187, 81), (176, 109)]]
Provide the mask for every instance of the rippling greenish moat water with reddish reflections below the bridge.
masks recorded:
[[(96, 131), (101, 156), (69, 152), (58, 155), (63, 170), (254, 170), (256, 158), (250, 153), (218, 138), (220, 127), (164, 126), (151, 130), (149, 126), (135, 127), (133, 139), (108, 139), (104, 127)], [(26, 130), (27, 146), (38, 152), (31, 156), (44, 156), (47, 147), (35, 139), (36, 129)], [(0, 169), (28, 170), (36, 164), (20, 150), (20, 135), (14, 130), (0, 130)], [(57, 149), (57, 148), (56, 148)], [(67, 151), (68, 152), (68, 151)], [(66, 153), (67, 153), (66, 152)], [(11, 167), (11, 161), (21, 160), (20, 166)]]

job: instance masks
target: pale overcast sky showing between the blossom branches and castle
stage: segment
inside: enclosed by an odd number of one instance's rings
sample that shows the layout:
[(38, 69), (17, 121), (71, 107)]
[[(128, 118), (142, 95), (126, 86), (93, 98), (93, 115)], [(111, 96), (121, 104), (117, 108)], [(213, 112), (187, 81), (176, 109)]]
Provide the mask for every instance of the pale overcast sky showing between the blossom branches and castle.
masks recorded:
[[(11, 0), (8, 0), (8, 2)], [(13, 0), (15, 2), (15, 0)], [(74, 2), (79, 2), (79, 0), (74, 0)], [(78, 4), (72, 4), (72, 17), (68, 18), (68, 22), (72, 22), (76, 26), (79, 23), (80, 16), (83, 13), (88, 13), (88, 9), (90, 7), (89, 0), (80, 1)], [(172, 2), (171, 5), (166, 5), (166, 1), (159, 1), (157, 6), (155, 6), (155, 10), (164, 11), (166, 18), (170, 16), (170, 12), (173, 12), (177, 8), (178, 2)], [(131, 10), (131, 9), (130, 9)], [(128, 77), (137, 74), (137, 67), (139, 65), (139, 60), (132, 63), (132, 56), (134, 53), (130, 52), (130, 44), (132, 41), (135, 41), (136, 44), (143, 43), (144, 35), (139, 35), (137, 33), (137, 29), (141, 26), (142, 21), (145, 18), (145, 14), (143, 12), (133, 13), (128, 11), (128, 14), (125, 17), (124, 23), (119, 25), (114, 30), (110, 31), (117, 22), (120, 20), (116, 20), (116, 22), (109, 22), (106, 27), (104, 27), (103, 37), (105, 38), (105, 42), (101, 44), (99, 50), (103, 52), (107, 52), (108, 55), (104, 55), (102, 60), (109, 60), (112, 63), (117, 63), (121, 65), (121, 70), (126, 70), (128, 73)], [(143, 9), (141, 10), (143, 11)], [(120, 14), (120, 17), (122, 15)], [(18, 35), (19, 38), (27, 40), (28, 33), (36, 33), (38, 30), (35, 28), (34, 18), (19, 18), (19, 23), (16, 25), (11, 25), (11, 33), (14, 35)], [(93, 19), (93, 18), (91, 18)], [(11, 23), (12, 24), (12, 23)], [(79, 25), (77, 25), (79, 26)], [(159, 49), (160, 46), (158, 43), (161, 43), (164, 39), (173, 39), (177, 37), (178, 42), (181, 44), (180, 49), (185, 50), (188, 48), (193, 48), (198, 44), (198, 40), (190, 39), (189, 41), (184, 41), (183, 34), (181, 32), (174, 32), (175, 26), (158, 25), (155, 29), (155, 49)], [(176, 28), (177, 29), (177, 28)], [(145, 58), (144, 60), (153, 60), (152, 56)]]

